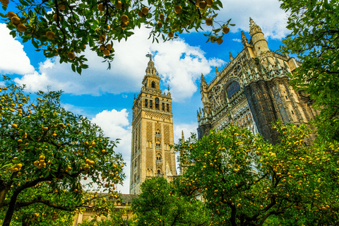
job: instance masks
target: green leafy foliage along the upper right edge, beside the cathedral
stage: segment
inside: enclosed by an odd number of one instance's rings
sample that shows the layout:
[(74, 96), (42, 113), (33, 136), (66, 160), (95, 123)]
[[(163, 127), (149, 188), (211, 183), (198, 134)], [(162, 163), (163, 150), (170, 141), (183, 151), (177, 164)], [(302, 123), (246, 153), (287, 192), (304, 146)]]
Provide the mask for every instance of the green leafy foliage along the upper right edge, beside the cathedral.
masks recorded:
[(283, 40), (285, 53), (297, 54), (302, 65), (290, 75), (292, 85), (305, 90), (321, 113), (321, 136), (339, 141), (339, 3), (336, 0), (280, 0), (290, 13)]

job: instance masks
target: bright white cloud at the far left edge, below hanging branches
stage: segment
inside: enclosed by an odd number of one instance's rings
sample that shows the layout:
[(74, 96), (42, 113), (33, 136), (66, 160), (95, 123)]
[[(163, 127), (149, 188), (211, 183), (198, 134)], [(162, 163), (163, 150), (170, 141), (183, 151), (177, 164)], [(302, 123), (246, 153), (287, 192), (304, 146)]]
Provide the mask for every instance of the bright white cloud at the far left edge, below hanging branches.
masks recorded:
[(23, 51), (23, 44), (13, 39), (9, 35), (10, 31), (6, 24), (0, 23), (0, 74), (32, 73), (34, 67), (30, 65), (30, 59)]

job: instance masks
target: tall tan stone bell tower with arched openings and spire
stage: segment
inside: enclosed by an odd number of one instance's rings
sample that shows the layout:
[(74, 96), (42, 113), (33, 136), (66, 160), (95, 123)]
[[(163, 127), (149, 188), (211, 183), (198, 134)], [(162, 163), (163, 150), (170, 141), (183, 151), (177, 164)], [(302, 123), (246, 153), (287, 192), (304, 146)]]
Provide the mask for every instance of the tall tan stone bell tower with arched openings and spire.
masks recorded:
[(177, 175), (174, 150), (169, 147), (174, 145), (171, 93), (159, 89), (160, 77), (151, 58), (132, 108), (130, 194), (140, 194), (139, 186), (147, 178), (172, 180)]

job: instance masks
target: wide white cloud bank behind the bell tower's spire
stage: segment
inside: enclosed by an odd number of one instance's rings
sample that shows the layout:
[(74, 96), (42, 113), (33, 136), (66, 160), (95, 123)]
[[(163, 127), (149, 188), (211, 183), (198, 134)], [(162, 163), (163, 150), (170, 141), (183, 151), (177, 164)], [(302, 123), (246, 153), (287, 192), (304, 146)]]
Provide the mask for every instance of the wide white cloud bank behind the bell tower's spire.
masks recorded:
[(36, 92), (47, 85), (52, 90), (63, 90), (74, 95), (101, 95), (102, 93), (139, 92), (145, 75), (148, 58), (147, 52), (156, 52), (155, 65), (165, 83), (171, 85), (173, 100), (184, 100), (196, 92), (196, 79), (201, 73), (209, 73), (210, 66), (221, 66), (220, 59), (206, 59), (199, 47), (191, 47), (184, 40), (161, 42), (148, 40), (149, 30), (134, 30), (129, 40), (114, 44), (115, 57), (112, 69), (95, 53), (87, 50), (89, 69), (81, 76), (71, 71), (69, 64), (59, 64), (59, 58), (47, 59), (40, 63), (39, 69), (16, 78), (16, 83), (25, 84), (28, 91)]

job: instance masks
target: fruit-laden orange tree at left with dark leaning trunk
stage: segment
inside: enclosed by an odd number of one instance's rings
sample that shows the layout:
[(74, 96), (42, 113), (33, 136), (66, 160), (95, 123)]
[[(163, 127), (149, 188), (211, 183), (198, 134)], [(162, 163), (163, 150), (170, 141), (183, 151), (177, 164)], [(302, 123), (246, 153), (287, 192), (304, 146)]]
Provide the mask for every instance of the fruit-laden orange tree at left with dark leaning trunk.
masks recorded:
[[(85, 195), (81, 179), (91, 179), (89, 186), (117, 196), (114, 184), (124, 178), (124, 162), (121, 154), (114, 153), (116, 142), (85, 117), (60, 107), (61, 92), (39, 92), (37, 100), (30, 100), (23, 87), (4, 78), (7, 85), (0, 88), (3, 225), (10, 225), (16, 211), (31, 205), (70, 212), (88, 206), (97, 197)], [(106, 210), (104, 198), (93, 208)]]

